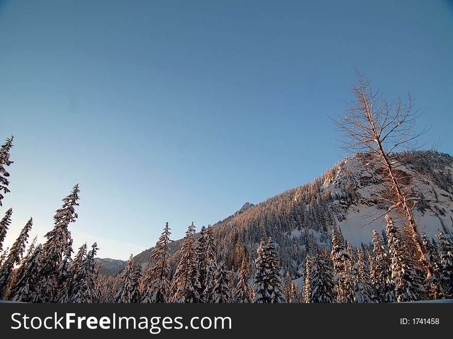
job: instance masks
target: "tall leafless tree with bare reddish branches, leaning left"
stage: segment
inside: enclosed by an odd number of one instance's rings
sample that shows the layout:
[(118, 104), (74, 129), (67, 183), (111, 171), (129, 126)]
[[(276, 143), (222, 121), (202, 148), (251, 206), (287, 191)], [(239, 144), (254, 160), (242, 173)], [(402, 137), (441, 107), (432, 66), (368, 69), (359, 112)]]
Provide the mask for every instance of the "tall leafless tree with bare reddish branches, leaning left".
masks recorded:
[(420, 262), (433, 287), (434, 298), (442, 298), (442, 287), (413, 217), (412, 210), (417, 198), (411, 194), (411, 178), (397, 169), (407, 159), (395, 154), (395, 151), (415, 149), (417, 138), (427, 129), (414, 132), (414, 122), (420, 114), (413, 110), (410, 95), (408, 103), (404, 103), (402, 99), (389, 103), (378, 91), (373, 90), (369, 80), (359, 73), (357, 75), (358, 83), (351, 88), (354, 100), (349, 103), (346, 115), (334, 120), (344, 136), (342, 148), (353, 152), (365, 151), (382, 165), (391, 185), (391, 198), (385, 199), (391, 204), (389, 211), (395, 209), (407, 219), (412, 239), (420, 252)]

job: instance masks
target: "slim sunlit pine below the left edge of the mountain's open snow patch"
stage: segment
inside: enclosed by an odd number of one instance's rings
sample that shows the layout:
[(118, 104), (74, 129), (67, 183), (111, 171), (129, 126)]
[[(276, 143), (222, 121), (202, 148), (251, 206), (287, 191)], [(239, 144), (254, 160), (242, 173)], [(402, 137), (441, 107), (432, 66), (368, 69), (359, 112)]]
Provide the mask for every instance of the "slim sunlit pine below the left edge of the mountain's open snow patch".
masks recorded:
[(332, 252), (338, 302), (354, 302), (354, 287), (351, 280), (350, 258), (344, 246), (344, 239), (334, 227), (332, 229)]

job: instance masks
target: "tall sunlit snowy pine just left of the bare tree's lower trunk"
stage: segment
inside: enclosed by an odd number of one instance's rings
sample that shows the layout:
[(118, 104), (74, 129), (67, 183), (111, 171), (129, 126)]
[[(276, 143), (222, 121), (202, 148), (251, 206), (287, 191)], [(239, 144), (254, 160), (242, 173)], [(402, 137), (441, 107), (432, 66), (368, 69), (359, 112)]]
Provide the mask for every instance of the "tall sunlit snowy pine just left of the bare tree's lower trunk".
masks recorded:
[(390, 283), (395, 287), (396, 301), (414, 301), (420, 298), (421, 286), (415, 271), (415, 263), (407, 254), (406, 244), (402, 241), (400, 231), (393, 224), (392, 218), (386, 216), (387, 239), (391, 259)]

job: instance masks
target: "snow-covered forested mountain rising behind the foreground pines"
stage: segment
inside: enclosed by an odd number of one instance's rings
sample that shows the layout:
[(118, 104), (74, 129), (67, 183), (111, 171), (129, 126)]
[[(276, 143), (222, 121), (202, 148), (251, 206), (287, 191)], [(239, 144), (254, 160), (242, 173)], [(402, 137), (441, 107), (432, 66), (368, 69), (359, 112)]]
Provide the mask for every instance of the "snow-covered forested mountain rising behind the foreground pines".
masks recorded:
[[(401, 157), (408, 154), (400, 154)], [(438, 229), (453, 234), (453, 157), (438, 152), (412, 152), (398, 168), (411, 181), (412, 194), (420, 198), (414, 215), (421, 232), (433, 237)], [(389, 193), (386, 173), (367, 155), (345, 158), (312, 183), (291, 188), (266, 201), (246, 203), (232, 216), (214, 225), (218, 259), (237, 267), (240, 253), (250, 260), (262, 237), (278, 244), (282, 269), (297, 278), (307, 247), (313, 242), (329, 246), (332, 228), (338, 227), (353, 245), (367, 245), (373, 229), (385, 228), (378, 218), (390, 206), (382, 197)], [(396, 223), (404, 219), (390, 212)], [(377, 219), (376, 219), (377, 218)], [(375, 220), (376, 219), (376, 220)], [(198, 229), (201, 225), (197, 225)], [(182, 239), (170, 244), (172, 265), (179, 259)], [(150, 249), (135, 259), (149, 262)]]

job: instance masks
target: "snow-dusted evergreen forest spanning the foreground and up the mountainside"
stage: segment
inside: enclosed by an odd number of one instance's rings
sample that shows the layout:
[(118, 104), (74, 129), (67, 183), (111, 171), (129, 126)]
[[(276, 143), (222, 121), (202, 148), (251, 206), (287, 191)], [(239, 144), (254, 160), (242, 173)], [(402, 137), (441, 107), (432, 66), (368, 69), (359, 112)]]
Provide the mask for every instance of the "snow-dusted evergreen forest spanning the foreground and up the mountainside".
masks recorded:
[[(3, 194), (9, 192), (6, 167), (12, 164), (12, 141), (8, 138), (0, 148)], [(424, 162), (420, 158), (411, 166), (426, 169)], [(429, 166), (436, 165), (431, 162)], [(131, 255), (115, 277), (100, 274), (94, 260), (96, 243), (73, 251), (68, 227), (78, 217), (78, 185), (57, 209), (44, 244), (36, 244), (35, 239), (27, 248), (30, 218), (11, 248), (2, 247), (11, 225), (10, 208), (0, 221), (0, 297), (23, 302), (216, 303), (451, 298), (453, 242), (445, 230), (431, 239), (422, 234), (430, 263), (441, 277), (443, 295), (433, 290), (410, 231), (405, 225), (395, 226), (390, 216), (386, 216), (385, 231), (374, 231), (369, 244), (353, 247), (344, 239), (334, 218), (341, 218), (349, 201), (357, 199), (354, 187), (341, 183), (341, 195), (321, 190), (338, 170), (340, 165), (311, 184), (288, 190), (215, 226), (203, 226), (199, 233), (192, 223), (179, 242), (170, 239), (167, 223), (155, 246), (145, 252), (148, 264)], [(445, 185), (448, 180), (447, 176), (439, 179)], [(0, 194), (0, 205), (3, 198)], [(335, 200), (341, 203), (334, 206)], [(300, 237), (288, 236), (294, 229)]]

